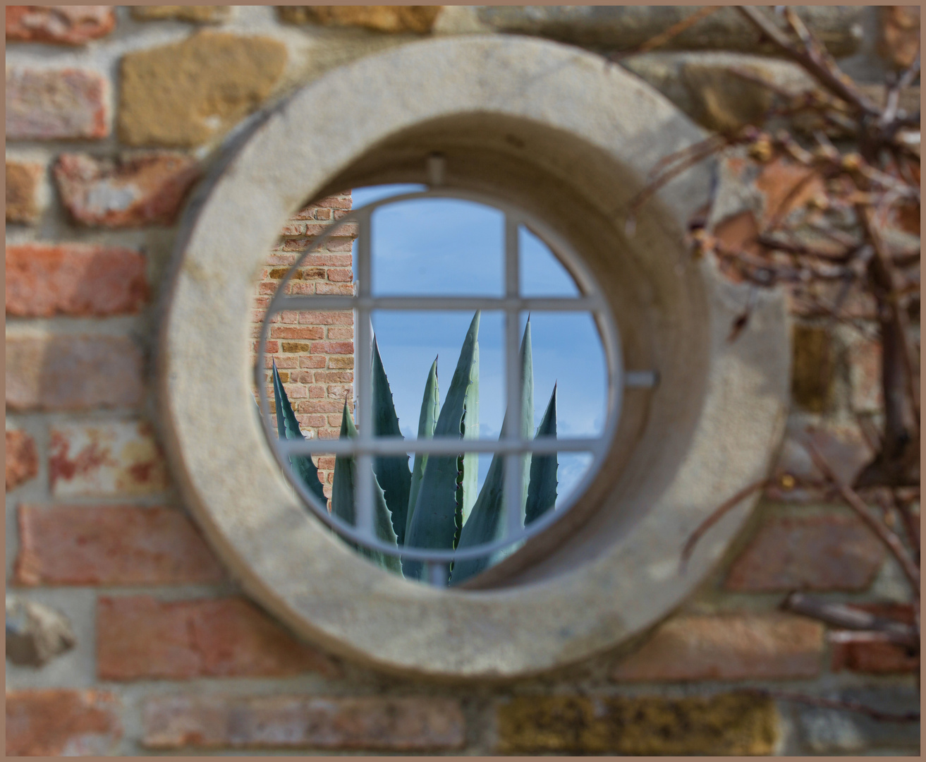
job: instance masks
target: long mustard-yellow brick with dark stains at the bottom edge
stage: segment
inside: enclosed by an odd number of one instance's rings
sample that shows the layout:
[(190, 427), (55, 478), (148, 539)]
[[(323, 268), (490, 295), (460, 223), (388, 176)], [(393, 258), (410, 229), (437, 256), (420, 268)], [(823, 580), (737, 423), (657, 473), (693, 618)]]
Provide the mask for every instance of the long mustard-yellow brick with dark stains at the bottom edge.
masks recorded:
[(498, 753), (631, 756), (768, 755), (774, 703), (754, 693), (661, 696), (530, 695), (498, 707)]

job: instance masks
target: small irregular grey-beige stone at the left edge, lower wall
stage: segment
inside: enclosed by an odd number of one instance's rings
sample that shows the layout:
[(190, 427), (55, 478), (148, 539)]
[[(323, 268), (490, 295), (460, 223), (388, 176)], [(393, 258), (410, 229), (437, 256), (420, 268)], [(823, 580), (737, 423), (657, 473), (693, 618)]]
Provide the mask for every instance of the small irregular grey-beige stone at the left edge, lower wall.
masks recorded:
[(42, 667), (74, 647), (70, 622), (54, 608), (6, 596), (6, 658), (13, 664)]

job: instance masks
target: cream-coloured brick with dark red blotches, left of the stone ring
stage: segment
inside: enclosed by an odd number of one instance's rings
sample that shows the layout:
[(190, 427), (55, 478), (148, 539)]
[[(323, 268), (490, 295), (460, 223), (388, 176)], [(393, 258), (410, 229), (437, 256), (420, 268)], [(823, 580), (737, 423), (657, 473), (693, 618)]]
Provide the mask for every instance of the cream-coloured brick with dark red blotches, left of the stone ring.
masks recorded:
[(144, 421), (57, 424), (48, 457), (56, 497), (152, 494), (168, 486), (164, 458)]

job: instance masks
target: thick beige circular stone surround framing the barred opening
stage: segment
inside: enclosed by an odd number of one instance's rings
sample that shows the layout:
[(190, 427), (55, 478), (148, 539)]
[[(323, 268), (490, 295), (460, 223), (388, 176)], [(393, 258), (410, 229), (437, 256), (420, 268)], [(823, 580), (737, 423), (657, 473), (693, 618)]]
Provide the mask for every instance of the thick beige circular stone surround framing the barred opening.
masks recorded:
[[(333, 108), (332, 104), (337, 107)], [(244, 589), (307, 639), (379, 668), (510, 678), (620, 643), (677, 606), (718, 560), (755, 497), (698, 543), (717, 506), (766, 476), (789, 379), (781, 294), (745, 288), (684, 247), (709, 166), (624, 211), (657, 160), (703, 133), (599, 56), (522, 37), (432, 40), (313, 81), (269, 115), (191, 204), (159, 346), (173, 472)], [(628, 390), (610, 460), (563, 520), (474, 579), (405, 581), (332, 537), (277, 467), (251, 397), (254, 282), (286, 219), (312, 199), (380, 182), (446, 182), (545, 219), (593, 273), (619, 325)]]

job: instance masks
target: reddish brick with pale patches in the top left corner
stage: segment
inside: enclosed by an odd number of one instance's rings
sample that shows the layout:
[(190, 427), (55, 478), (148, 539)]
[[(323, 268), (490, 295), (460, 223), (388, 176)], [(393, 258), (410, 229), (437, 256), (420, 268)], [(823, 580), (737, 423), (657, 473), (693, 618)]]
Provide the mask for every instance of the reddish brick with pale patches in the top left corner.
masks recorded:
[(112, 6), (6, 6), (6, 39), (79, 45), (116, 26)]

